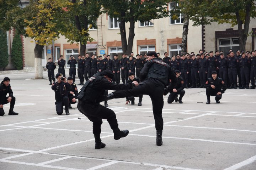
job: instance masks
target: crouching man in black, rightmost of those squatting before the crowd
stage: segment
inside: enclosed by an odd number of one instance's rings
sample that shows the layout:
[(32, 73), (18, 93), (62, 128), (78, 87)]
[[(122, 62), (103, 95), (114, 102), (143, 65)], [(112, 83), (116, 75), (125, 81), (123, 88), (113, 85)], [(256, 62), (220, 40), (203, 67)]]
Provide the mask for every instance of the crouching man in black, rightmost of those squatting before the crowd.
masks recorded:
[(220, 103), (220, 99), (222, 98), (222, 94), (227, 89), (225, 82), (217, 77), (217, 72), (212, 72), (212, 77), (206, 81), (206, 96), (207, 102), (206, 104), (210, 104), (210, 96), (215, 96), (216, 103)]

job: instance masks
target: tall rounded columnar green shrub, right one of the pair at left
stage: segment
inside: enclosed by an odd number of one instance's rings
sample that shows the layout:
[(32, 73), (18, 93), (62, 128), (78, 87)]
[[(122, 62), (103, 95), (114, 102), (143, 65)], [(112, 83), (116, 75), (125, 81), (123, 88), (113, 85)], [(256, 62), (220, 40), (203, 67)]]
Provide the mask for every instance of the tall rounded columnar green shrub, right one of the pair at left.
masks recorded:
[(12, 64), (14, 65), (14, 67), (17, 70), (21, 70), (23, 68), (22, 42), (19, 34), (15, 34), (14, 39), (12, 41), (11, 56)]

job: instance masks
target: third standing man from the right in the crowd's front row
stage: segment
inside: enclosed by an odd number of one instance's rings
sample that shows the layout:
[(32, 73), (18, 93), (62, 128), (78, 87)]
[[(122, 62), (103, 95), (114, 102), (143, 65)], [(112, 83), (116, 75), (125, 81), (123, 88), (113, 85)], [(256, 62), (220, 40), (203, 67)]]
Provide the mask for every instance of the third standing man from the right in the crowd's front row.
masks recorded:
[(228, 89), (236, 89), (237, 85), (237, 76), (238, 71), (237, 68), (239, 67), (239, 61), (238, 58), (235, 57), (234, 52), (230, 52), (230, 57), (228, 59), (228, 76), (229, 76), (229, 83), (230, 87)]

